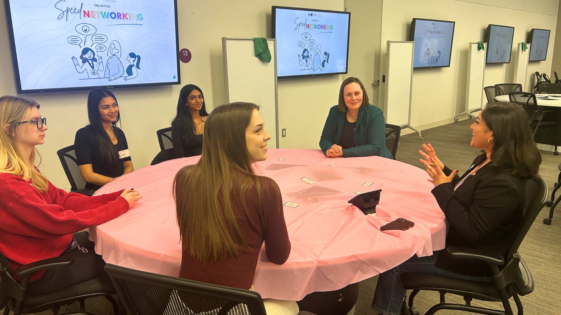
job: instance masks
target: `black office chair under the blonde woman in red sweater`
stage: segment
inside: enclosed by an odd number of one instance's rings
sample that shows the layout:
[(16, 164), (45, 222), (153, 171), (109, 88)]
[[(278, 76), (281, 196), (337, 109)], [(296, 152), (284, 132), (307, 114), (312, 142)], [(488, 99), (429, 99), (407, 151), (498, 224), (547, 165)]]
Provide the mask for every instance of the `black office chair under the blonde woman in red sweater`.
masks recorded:
[[(113, 304), (113, 315), (119, 313), (117, 302), (111, 297), (116, 294), (113, 284), (107, 275), (92, 279), (70, 288), (44, 295), (29, 296), (27, 290), (33, 287), (34, 282), (29, 279), (36, 271), (50, 268), (66, 267), (72, 265), (74, 258), (53, 257), (17, 267), (12, 272), (12, 267), (7, 258), (0, 252), (0, 309), (3, 315), (10, 311), (13, 315), (29, 314), (54, 309), (57, 314), (62, 305), (80, 302), (80, 312), (66, 313), (65, 315), (93, 315), (85, 311), (87, 298), (103, 296)], [(13, 275), (21, 277), (21, 281), (14, 279)]]

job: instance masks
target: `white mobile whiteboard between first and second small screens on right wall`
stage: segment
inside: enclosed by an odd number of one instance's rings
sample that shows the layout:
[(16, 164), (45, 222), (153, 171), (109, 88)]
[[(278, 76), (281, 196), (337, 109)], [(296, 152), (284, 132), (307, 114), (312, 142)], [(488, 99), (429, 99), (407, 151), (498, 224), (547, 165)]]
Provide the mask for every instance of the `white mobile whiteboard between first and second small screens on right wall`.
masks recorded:
[(458, 121), (458, 116), (468, 115), (476, 118), (473, 112), (479, 112), (483, 108), (484, 78), (485, 78), (485, 50), (487, 43), (483, 43), (483, 48), (477, 50), (477, 43), (470, 42), (467, 46), (467, 86), (466, 86), (466, 109), (465, 112), (454, 116), (454, 122)]

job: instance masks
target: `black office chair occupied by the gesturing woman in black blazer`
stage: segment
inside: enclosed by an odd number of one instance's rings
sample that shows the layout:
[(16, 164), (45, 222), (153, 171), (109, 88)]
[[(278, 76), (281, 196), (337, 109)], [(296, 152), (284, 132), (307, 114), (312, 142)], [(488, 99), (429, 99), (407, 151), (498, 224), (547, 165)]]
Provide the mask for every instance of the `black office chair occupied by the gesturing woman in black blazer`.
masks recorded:
[[(494, 282), (467, 281), (407, 272), (401, 275), (401, 281), (407, 290), (413, 291), (409, 297), (408, 305), (404, 305), (404, 309), (408, 308), (412, 314), (419, 314), (417, 309), (413, 307), (413, 299), (420, 290), (430, 290), (440, 293), (440, 303), (431, 307), (425, 315), (433, 315), (440, 309), (454, 309), (489, 315), (513, 315), (511, 304), (509, 303), (511, 297), (514, 299), (514, 303), (516, 303), (518, 315), (522, 315), (522, 303), (518, 295), (531, 293), (534, 290), (534, 279), (532, 279), (530, 270), (528, 270), (526, 263), (518, 253), (518, 247), (530, 226), (534, 223), (536, 216), (545, 206), (544, 201), (548, 194), (548, 188), (544, 180), (539, 176), (528, 179), (525, 190), (526, 202), (522, 211), (520, 229), (514, 243), (509, 248), (507, 256), (482, 253), (474, 248), (447, 248), (448, 253), (452, 257), (485, 261), (493, 271)], [(446, 303), (444, 299), (446, 293), (461, 295), (466, 304)], [(472, 299), (502, 302), (504, 311), (473, 306), (471, 305)]]

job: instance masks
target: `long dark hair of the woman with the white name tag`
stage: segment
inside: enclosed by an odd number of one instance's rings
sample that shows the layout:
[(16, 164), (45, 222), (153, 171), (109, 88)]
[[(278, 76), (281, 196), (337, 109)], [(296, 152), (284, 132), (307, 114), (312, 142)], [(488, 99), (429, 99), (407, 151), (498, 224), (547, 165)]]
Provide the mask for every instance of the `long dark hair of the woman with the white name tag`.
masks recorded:
[[(115, 101), (115, 95), (107, 89), (98, 88), (90, 91), (88, 95), (88, 119), (90, 121), (90, 128), (93, 129), (93, 133), (98, 142), (99, 151), (101, 153), (101, 160), (103, 165), (107, 168), (109, 172), (116, 172), (119, 169), (119, 152), (117, 152), (116, 147), (111, 142), (111, 138), (107, 134), (107, 131), (103, 128), (102, 117), (99, 114), (99, 102), (103, 98), (111, 96)], [(112, 122), (113, 127), (117, 127), (117, 122), (121, 119), (121, 112), (117, 113), (117, 120)], [(114, 129), (113, 129), (114, 131)], [(117, 132), (114, 132), (117, 136)]]

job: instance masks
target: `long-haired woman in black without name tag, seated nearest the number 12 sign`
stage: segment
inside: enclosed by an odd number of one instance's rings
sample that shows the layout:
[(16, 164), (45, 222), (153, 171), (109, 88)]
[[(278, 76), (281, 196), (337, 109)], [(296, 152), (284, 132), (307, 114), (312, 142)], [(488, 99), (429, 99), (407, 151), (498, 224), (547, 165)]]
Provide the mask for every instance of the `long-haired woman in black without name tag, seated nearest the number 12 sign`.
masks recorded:
[(163, 161), (201, 155), (206, 117), (203, 91), (194, 85), (183, 86), (172, 121), (173, 148), (160, 151), (150, 165)]

